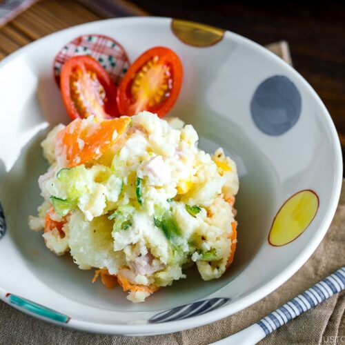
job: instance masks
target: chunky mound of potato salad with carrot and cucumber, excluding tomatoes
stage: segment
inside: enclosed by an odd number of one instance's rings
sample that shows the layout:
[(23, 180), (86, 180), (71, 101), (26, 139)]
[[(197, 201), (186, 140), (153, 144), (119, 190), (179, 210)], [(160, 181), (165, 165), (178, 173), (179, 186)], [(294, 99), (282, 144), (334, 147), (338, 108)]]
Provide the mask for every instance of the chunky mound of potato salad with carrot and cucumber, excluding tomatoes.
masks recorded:
[(132, 302), (185, 278), (193, 262), (203, 279), (221, 277), (235, 251), (239, 181), (221, 148), (211, 157), (197, 141), (193, 126), (150, 112), (57, 126), (42, 142), (50, 168), (30, 228)]

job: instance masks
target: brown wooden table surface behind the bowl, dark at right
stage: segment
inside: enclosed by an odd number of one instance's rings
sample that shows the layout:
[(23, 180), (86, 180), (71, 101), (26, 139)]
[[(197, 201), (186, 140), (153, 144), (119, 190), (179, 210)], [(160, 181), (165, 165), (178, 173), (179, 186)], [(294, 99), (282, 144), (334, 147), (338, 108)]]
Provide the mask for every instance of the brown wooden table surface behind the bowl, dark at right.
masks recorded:
[[(121, 0), (124, 1), (124, 0)], [(320, 5), (226, 0), (132, 0), (153, 15), (201, 21), (257, 43), (286, 40), (293, 65), (333, 117), (345, 152), (345, 2)], [(278, 5), (279, 3), (279, 5)], [(73, 0), (41, 0), (0, 29), (0, 59), (51, 32), (102, 19)]]

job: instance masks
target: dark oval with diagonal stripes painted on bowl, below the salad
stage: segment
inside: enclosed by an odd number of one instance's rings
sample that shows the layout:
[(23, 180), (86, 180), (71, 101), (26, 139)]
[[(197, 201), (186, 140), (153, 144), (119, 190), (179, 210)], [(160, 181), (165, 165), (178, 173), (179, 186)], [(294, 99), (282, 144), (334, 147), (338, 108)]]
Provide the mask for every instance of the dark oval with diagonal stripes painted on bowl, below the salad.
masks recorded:
[(228, 302), (230, 302), (230, 298), (205, 299), (204, 301), (186, 304), (184, 306), (177, 306), (168, 311), (162, 311), (161, 313), (151, 317), (148, 322), (150, 324), (161, 324), (163, 322), (188, 319), (189, 317), (214, 311), (215, 309), (228, 304)]

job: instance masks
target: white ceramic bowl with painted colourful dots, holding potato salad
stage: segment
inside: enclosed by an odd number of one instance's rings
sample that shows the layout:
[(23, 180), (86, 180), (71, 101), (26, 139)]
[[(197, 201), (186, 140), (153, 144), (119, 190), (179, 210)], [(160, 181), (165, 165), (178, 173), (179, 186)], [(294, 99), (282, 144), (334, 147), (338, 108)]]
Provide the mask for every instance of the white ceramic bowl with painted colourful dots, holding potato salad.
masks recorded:
[[(201, 148), (222, 146), (237, 161), (237, 253), (221, 279), (203, 282), (192, 268), (187, 279), (132, 304), (119, 287), (91, 284), (91, 271), (79, 270), (68, 255), (53, 255), (41, 234), (28, 229), (28, 215), (41, 202), (37, 177), (47, 167), (39, 143), (49, 126), (68, 121), (52, 61), (63, 44), (90, 33), (117, 39), (131, 61), (152, 46), (175, 50), (185, 78), (171, 114), (195, 126)], [(126, 335), (213, 322), (286, 282), (331, 224), (342, 156), (330, 115), (293, 68), (233, 32), (148, 17), (88, 23), (4, 59), (0, 95), (0, 201), (7, 225), (5, 233), (0, 219), (0, 297), (42, 319)], [(270, 232), (274, 219), (279, 224)]]

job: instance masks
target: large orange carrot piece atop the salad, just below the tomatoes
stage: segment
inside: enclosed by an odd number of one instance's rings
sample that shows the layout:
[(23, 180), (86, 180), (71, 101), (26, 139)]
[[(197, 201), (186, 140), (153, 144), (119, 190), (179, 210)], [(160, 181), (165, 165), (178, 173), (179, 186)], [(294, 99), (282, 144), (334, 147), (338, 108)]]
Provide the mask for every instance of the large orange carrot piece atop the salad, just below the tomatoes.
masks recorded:
[[(84, 122), (85, 121), (85, 122)], [(98, 159), (114, 144), (130, 123), (129, 117), (97, 121), (84, 126), (87, 119), (75, 119), (55, 137), (55, 155), (66, 157), (66, 166), (72, 168)]]

